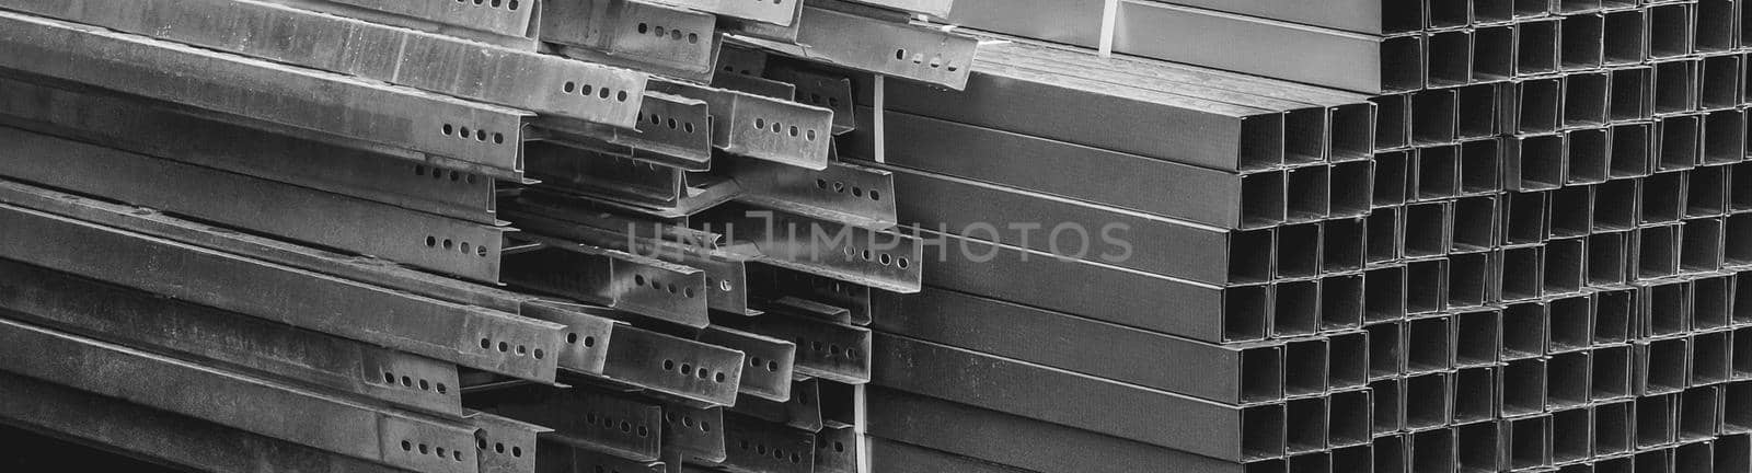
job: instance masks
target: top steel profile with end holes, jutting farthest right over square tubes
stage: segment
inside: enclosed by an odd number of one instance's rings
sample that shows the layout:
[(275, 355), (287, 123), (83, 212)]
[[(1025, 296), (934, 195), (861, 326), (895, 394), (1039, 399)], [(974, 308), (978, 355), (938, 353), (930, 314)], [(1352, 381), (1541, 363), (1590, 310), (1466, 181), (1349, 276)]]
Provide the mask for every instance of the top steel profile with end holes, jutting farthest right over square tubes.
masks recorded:
[(822, 7), (802, 9), (795, 44), (738, 37), (830, 65), (964, 89), (979, 40), (920, 25), (890, 23)]

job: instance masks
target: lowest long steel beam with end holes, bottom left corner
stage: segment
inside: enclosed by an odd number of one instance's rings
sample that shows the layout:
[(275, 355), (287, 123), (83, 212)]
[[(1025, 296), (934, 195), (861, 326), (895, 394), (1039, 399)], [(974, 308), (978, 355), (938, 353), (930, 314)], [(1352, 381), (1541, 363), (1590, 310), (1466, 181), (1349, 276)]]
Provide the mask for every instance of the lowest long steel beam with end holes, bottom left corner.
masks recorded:
[(25, 377), (394, 468), (477, 471), (473, 454), (466, 452), (473, 429), (463, 424), (378, 410), (14, 321), (0, 321), (0, 342), (33, 347), (0, 359), (0, 370)]

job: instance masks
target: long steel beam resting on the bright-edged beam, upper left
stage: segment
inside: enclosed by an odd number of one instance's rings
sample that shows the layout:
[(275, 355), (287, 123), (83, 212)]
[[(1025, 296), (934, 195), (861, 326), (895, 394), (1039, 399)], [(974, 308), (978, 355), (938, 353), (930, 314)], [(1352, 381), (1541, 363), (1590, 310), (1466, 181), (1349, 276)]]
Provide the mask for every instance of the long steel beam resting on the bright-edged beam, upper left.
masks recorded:
[[(357, 0), (356, 0), (357, 2)], [(284, 63), (322, 68), (349, 75), (378, 79), (433, 93), (454, 95), (505, 107), (527, 109), (540, 114), (573, 117), (631, 128), (638, 121), (638, 100), (620, 100), (618, 91), (643, 96), (645, 74), (610, 67), (541, 56), (533, 51), (468, 46), (464, 40), (417, 30), (391, 28), (347, 16), (319, 14), (296, 7), (263, 2), (96, 2), (72, 9), (65, 4), (5, 2), (11, 9), (32, 14), (79, 21), (119, 32), (152, 35), (163, 40), (186, 42), (258, 56)], [(464, 9), (457, 5), (456, 9)], [(529, 16), (524, 9), (524, 16)], [(105, 11), (144, 11), (140, 16), (107, 16)], [(473, 7), (466, 11), (491, 12), (505, 9)], [(200, 12), (215, 18), (210, 25), (182, 25), (168, 28), (177, 18)], [(244, 30), (203, 30), (230, 23), (226, 18), (254, 18), (263, 28), (301, 32), (282, 42), (249, 40)], [(529, 19), (524, 18), (524, 23)], [(519, 26), (519, 35), (524, 32)], [(343, 44), (345, 42), (345, 44)], [(317, 51), (347, 49), (350, 44), (401, 44), (401, 47), (359, 49), (359, 58), (321, 56)], [(459, 54), (478, 51), (473, 56)], [(484, 54), (482, 54), (484, 53)], [(384, 54), (377, 58), (373, 54)], [(417, 58), (417, 60), (415, 60)], [(470, 79), (463, 79), (470, 77)], [(589, 89), (610, 89), (610, 96), (571, 93), (564, 84), (583, 84)]]

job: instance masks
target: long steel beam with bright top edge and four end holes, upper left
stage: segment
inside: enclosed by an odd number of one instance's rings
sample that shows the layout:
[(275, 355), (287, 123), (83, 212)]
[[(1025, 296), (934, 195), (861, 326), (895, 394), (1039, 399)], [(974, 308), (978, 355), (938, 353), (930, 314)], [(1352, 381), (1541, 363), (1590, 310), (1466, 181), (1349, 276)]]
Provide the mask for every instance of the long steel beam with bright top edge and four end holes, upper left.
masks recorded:
[(524, 110), (14, 12), (0, 12), (0, 47), (12, 51), (0, 56), (0, 68), (179, 102), (252, 128), (266, 123), (317, 131), (373, 151), (427, 154), (410, 159), (522, 179), (522, 131), (533, 117)]

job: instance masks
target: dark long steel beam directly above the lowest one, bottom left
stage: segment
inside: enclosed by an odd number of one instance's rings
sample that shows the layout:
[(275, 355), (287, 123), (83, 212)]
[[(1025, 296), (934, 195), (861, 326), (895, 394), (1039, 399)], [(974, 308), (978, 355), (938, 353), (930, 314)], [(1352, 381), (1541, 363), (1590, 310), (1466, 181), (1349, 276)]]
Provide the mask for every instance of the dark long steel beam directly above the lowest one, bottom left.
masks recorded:
[(0, 314), (463, 415), (456, 364), (0, 259)]

